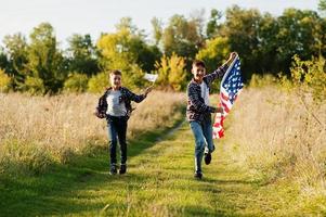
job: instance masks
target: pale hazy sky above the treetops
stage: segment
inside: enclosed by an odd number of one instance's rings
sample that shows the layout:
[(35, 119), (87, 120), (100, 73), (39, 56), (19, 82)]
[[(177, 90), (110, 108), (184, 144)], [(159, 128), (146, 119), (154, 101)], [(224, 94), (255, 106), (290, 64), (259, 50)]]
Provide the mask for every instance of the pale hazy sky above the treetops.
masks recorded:
[(28, 36), (42, 22), (54, 27), (63, 46), (73, 34), (90, 34), (96, 40), (101, 33), (115, 31), (125, 16), (149, 35), (155, 16), (168, 23), (174, 14), (188, 17), (204, 9), (208, 18), (211, 9), (225, 11), (233, 4), (281, 15), (286, 8), (316, 11), (318, 0), (0, 0), (0, 44), (5, 35)]

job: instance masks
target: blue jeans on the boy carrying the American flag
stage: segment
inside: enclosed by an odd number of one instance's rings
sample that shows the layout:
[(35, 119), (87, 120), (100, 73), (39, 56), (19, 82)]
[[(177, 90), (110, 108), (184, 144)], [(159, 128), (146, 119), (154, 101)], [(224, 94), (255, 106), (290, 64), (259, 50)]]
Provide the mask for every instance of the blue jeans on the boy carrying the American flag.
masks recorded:
[[(203, 123), (191, 122), (191, 128), (195, 137), (195, 171), (201, 173), (201, 161), (204, 152), (211, 153), (214, 151), (212, 141), (211, 119), (206, 119)], [(205, 150), (206, 149), (206, 150)]]

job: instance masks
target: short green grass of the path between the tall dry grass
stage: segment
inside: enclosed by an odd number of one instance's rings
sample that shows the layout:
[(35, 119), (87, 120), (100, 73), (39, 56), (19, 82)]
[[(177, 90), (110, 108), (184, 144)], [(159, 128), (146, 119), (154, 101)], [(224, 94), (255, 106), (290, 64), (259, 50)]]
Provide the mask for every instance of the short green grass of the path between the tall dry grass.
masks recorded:
[[(168, 137), (148, 132), (129, 142), (128, 174), (108, 174), (107, 149), (52, 165), (42, 175), (0, 178), (0, 216), (302, 216), (291, 183), (250, 180), (218, 144), (204, 179), (193, 178), (187, 124)], [(315, 205), (316, 206), (316, 205)], [(305, 213), (303, 213), (305, 212)]]

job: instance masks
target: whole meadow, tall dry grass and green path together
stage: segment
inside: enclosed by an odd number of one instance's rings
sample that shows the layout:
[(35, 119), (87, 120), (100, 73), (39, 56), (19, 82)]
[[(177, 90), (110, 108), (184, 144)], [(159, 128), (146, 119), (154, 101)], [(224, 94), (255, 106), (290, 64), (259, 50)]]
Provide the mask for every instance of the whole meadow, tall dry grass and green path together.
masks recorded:
[(93, 116), (97, 98), (1, 93), (0, 214), (326, 214), (324, 101), (302, 102), (275, 85), (245, 88), (198, 181), (184, 93), (154, 91), (133, 105), (126, 176), (108, 174), (105, 120)]

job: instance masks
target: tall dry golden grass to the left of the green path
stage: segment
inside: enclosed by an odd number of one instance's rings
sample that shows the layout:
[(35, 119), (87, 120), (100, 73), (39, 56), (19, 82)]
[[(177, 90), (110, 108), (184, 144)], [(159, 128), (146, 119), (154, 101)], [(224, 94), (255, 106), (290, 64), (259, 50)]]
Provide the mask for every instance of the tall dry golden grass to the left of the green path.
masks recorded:
[[(0, 173), (22, 167), (41, 171), (53, 161), (63, 163), (74, 153), (105, 145), (106, 122), (93, 115), (99, 97), (0, 93)], [(184, 104), (183, 93), (153, 91), (135, 104), (129, 138), (171, 126)]]

